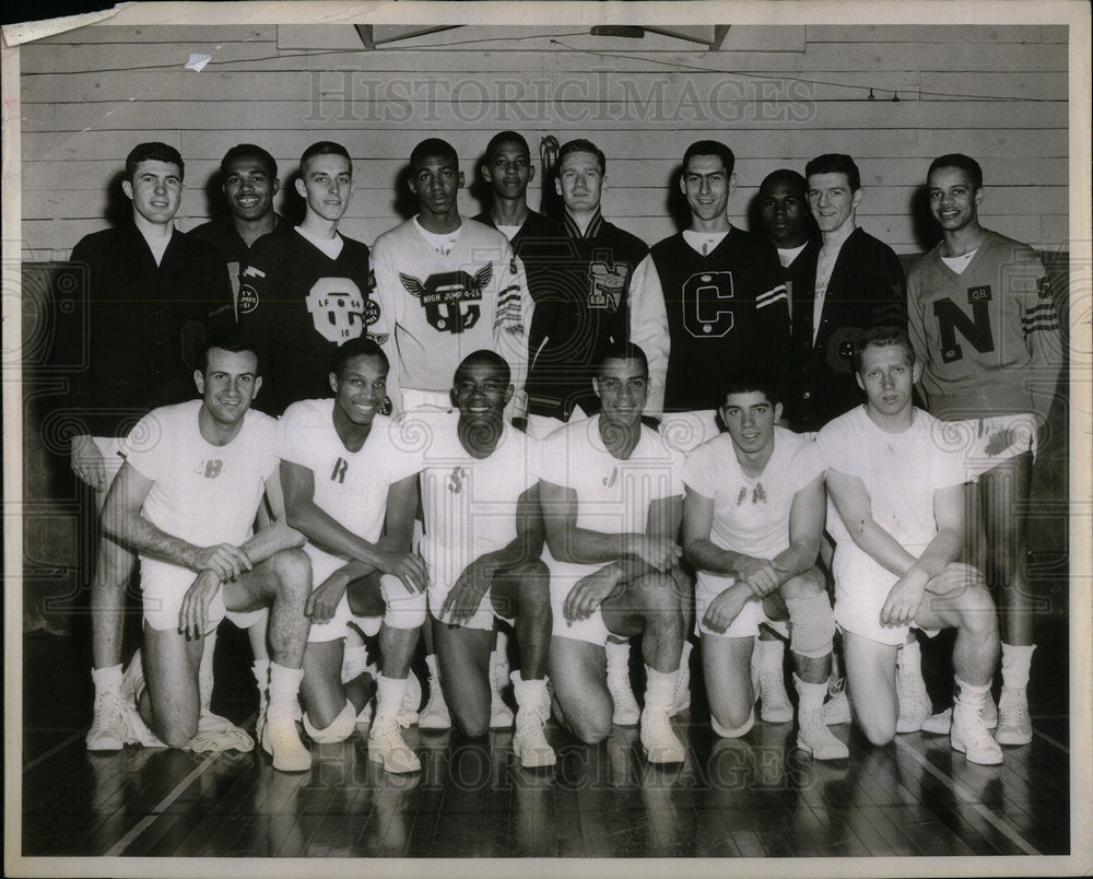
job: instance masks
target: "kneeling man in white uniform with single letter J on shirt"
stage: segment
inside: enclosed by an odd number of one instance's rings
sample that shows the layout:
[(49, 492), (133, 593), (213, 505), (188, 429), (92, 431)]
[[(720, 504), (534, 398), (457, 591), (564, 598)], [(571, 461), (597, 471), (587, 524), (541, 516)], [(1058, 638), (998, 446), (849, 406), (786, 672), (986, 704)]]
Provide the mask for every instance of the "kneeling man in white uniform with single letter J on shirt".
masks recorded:
[(686, 752), (669, 713), (684, 635), (675, 543), (682, 460), (642, 424), (648, 383), (640, 348), (608, 345), (592, 379), (599, 414), (555, 431), (540, 447), (550, 672), (562, 722), (581, 741), (601, 741), (613, 714), (604, 645), (611, 635), (642, 632), (642, 747), (650, 762), (681, 763)]

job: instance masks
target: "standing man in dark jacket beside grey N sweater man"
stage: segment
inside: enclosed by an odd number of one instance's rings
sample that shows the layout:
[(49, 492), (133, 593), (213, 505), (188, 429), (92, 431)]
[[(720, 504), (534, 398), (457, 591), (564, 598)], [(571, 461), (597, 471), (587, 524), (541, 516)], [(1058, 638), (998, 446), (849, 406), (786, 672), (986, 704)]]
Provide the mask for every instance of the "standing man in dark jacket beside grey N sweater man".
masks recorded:
[(857, 225), (862, 191), (854, 160), (820, 155), (808, 163), (804, 176), (823, 244), (802, 267), (810, 288), (795, 284), (794, 382), (786, 418), (796, 431), (818, 431), (865, 400), (850, 367), (854, 340), (878, 325), (905, 327), (907, 294), (895, 253)]

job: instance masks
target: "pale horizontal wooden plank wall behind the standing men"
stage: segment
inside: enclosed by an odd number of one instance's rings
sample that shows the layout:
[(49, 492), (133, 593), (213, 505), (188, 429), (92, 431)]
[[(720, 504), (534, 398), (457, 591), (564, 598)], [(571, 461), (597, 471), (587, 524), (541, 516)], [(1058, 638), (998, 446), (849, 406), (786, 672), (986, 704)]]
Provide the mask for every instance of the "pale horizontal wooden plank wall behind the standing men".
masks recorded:
[[(343, 230), (371, 243), (401, 220), (398, 175), (414, 143), (448, 139), (470, 185), (503, 128), (533, 150), (545, 134), (596, 141), (608, 154), (604, 214), (650, 243), (675, 231), (683, 150), (714, 137), (738, 155), (740, 225), (766, 173), (848, 152), (866, 187), (860, 224), (918, 253), (930, 243), (928, 219), (916, 220), (927, 165), (961, 151), (984, 165), (990, 226), (1062, 248), (1067, 38), (1066, 26), (1039, 25), (737, 25), (709, 52), (560, 24), (462, 27), (364, 51), (344, 24), (82, 28), (21, 51), (24, 258), (63, 259), (102, 227), (142, 140), (187, 162), (183, 228), (208, 218), (231, 145), (265, 145), (284, 180), (310, 142), (341, 141), (359, 185)], [(211, 56), (201, 72), (186, 69), (191, 54)], [(466, 213), (481, 209), (474, 191), (461, 194)]]

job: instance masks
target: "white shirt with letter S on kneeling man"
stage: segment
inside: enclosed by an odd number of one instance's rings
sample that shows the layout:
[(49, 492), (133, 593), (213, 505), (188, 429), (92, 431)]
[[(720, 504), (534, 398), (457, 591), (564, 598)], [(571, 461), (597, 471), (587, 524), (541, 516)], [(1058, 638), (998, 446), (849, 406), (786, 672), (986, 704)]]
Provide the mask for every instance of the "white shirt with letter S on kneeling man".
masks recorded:
[(536, 440), (505, 425), (493, 454), (480, 460), (460, 444), (458, 421), (458, 413), (430, 420), (435, 430), (421, 473), (421, 554), (447, 585), (480, 555), (516, 538), (517, 501), (538, 481)]

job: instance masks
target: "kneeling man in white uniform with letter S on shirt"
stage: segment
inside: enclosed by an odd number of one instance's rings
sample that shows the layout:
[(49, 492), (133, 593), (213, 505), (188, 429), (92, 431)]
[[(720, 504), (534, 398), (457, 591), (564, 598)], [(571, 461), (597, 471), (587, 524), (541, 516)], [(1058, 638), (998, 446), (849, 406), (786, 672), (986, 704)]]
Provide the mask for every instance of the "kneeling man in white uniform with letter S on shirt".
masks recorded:
[(543, 525), (531, 460), (538, 443), (505, 424), (513, 392), (505, 359), (475, 351), (453, 380), (458, 417), (407, 419), (427, 419), (431, 433), (421, 474), (421, 554), (428, 565), (428, 605), (451, 716), (466, 736), (490, 730), (493, 618), (513, 622), (520, 648), (520, 670), (512, 675), (513, 749), (526, 767), (550, 766), (554, 751), (543, 736), (550, 717), (550, 587), (540, 558)]

